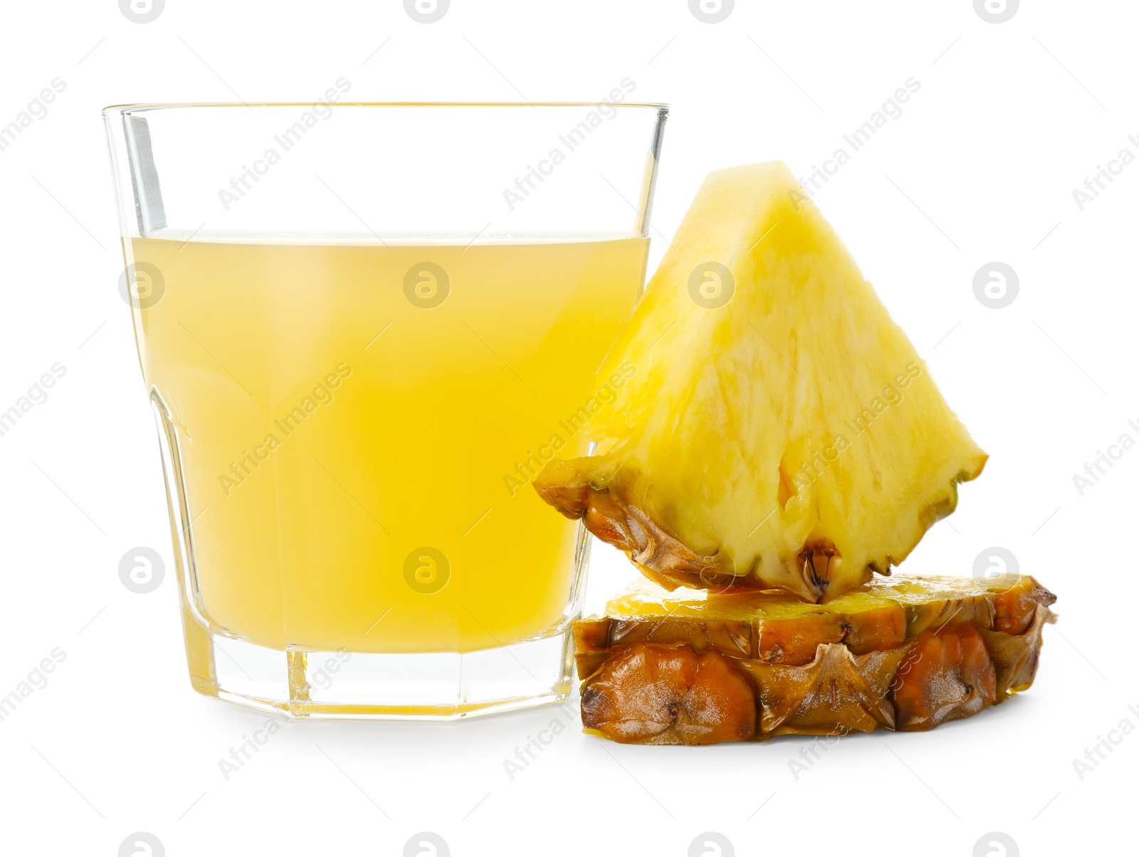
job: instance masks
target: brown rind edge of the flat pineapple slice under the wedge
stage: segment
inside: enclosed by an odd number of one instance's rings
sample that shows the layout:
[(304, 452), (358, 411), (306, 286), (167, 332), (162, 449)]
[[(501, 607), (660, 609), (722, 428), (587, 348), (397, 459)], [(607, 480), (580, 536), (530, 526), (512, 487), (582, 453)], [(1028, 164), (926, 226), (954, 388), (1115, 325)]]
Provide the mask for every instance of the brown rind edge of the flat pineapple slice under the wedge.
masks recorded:
[(972, 588), (925, 601), (915, 588), (899, 596), (904, 605), (812, 609), (751, 627), (689, 615), (579, 621), (582, 723), (622, 743), (707, 744), (969, 717), (1032, 684), (1056, 601), (1032, 578)]

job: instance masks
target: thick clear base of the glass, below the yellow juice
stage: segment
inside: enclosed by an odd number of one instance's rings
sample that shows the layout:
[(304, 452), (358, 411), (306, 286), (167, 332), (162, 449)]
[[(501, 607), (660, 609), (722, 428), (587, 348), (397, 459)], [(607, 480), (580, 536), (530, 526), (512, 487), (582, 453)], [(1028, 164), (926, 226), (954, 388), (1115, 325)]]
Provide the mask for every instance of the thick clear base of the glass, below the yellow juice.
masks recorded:
[(457, 720), (564, 701), (567, 629), (477, 652), (375, 654), (267, 648), (186, 617), (194, 688), (297, 718)]

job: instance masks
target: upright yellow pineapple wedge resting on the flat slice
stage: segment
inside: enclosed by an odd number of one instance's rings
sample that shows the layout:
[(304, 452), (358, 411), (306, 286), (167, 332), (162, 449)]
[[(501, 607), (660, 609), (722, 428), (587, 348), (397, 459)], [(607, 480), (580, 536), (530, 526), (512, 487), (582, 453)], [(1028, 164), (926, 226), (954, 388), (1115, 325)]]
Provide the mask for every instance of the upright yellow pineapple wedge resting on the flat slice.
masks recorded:
[(839, 595), (986, 458), (781, 162), (708, 174), (601, 377), (534, 487), (666, 587)]

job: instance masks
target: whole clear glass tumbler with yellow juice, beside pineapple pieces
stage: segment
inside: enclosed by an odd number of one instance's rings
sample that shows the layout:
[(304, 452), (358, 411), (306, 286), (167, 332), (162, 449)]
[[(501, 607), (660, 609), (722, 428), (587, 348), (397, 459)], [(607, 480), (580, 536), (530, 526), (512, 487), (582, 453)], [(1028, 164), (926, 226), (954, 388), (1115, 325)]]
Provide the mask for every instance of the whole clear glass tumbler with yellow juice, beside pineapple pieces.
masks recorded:
[(564, 699), (583, 528), (531, 487), (637, 367), (667, 109), (104, 111), (190, 681), (297, 717)]

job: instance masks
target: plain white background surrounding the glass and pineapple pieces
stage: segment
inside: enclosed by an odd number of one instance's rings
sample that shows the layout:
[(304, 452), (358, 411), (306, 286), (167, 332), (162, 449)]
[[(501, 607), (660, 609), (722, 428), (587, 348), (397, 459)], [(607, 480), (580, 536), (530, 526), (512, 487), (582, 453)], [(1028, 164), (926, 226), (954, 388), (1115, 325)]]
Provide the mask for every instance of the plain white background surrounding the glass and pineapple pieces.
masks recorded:
[[(0, 723), (3, 851), (116, 855), (133, 831), (172, 857), (400, 855), (418, 831), (453, 855), (680, 856), (705, 831), (738, 855), (967, 857), (989, 831), (1023, 855), (1133, 848), (1139, 736), (1082, 781), (1073, 759), (1139, 726), (1139, 449), (1083, 496), (1072, 476), (1139, 440), (1139, 163), (1083, 211), (1072, 191), (1139, 155), (1137, 24), (1123, 0), (1025, 0), (1003, 24), (970, 0), (741, 1), (720, 24), (683, 0), (453, 0), (429, 25), (394, 0), (169, 0), (145, 25), (113, 0), (6, 3), (0, 124), (67, 87), (0, 152), (0, 406), (67, 372), (0, 436), (0, 695), (66, 653)], [(117, 577), (128, 549), (169, 566), (171, 548), (99, 108), (306, 100), (341, 75), (355, 100), (597, 100), (628, 75), (672, 105), (666, 236), (707, 170), (781, 157), (803, 174), (920, 81), (817, 202), (991, 455), (907, 570), (968, 574), (1010, 549), (1059, 595), (1035, 686), (933, 733), (843, 738), (797, 781), (805, 740), (621, 746), (580, 733), (574, 699), (457, 725), (292, 724), (227, 782), (218, 760), (264, 717), (191, 692), (170, 574), (145, 596)], [(1019, 276), (1005, 309), (973, 293), (993, 260)], [(590, 606), (632, 574), (603, 546), (593, 565)], [(552, 718), (570, 727), (511, 781), (503, 760)]]

